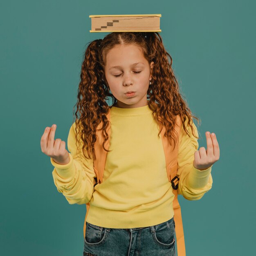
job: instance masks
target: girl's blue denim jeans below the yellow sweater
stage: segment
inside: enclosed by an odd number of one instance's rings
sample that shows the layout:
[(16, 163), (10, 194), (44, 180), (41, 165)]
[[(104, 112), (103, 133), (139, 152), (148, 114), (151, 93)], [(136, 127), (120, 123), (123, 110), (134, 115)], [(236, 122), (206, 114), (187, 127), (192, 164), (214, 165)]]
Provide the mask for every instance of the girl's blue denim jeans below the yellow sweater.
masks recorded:
[(83, 256), (176, 256), (175, 222), (111, 229), (86, 222)]

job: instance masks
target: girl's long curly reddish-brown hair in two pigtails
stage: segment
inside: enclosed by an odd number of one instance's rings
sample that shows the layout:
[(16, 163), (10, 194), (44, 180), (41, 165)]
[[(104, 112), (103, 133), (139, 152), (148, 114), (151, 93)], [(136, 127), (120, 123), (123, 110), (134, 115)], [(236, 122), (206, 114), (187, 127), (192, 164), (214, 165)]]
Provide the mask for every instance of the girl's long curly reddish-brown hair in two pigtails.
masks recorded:
[[(108, 82), (105, 76), (106, 54), (112, 47), (119, 44), (135, 44), (143, 49), (143, 54), (148, 63), (154, 62), (152, 84), (147, 92), (148, 107), (153, 112), (153, 118), (165, 127), (165, 136), (169, 142), (177, 139), (177, 132), (174, 130), (176, 115), (180, 120), (185, 132), (185, 121), (191, 127), (193, 135), (194, 117), (188, 104), (178, 86), (177, 79), (172, 70), (171, 55), (166, 52), (162, 38), (158, 32), (112, 32), (103, 39), (96, 39), (89, 43), (84, 53), (84, 60), (81, 67), (80, 82), (76, 106), (76, 142), (80, 140), (83, 155), (87, 159), (96, 159), (94, 144), (97, 140), (96, 132), (101, 130), (103, 137), (103, 148), (109, 139), (107, 129), (111, 125), (107, 114), (117, 99), (108, 90)], [(170, 58), (170, 61), (168, 60)], [(106, 99), (112, 98), (112, 105), (108, 106)], [(74, 108), (75, 108), (74, 106)], [(74, 109), (73, 109), (74, 110)], [(79, 116), (77, 113), (79, 112)], [(74, 122), (74, 120), (73, 120)], [(101, 128), (99, 125), (102, 124)], [(160, 129), (158, 136), (162, 128)], [(176, 137), (173, 136), (173, 131)], [(198, 138), (198, 137), (197, 137)], [(86, 156), (88, 153), (88, 157)]]

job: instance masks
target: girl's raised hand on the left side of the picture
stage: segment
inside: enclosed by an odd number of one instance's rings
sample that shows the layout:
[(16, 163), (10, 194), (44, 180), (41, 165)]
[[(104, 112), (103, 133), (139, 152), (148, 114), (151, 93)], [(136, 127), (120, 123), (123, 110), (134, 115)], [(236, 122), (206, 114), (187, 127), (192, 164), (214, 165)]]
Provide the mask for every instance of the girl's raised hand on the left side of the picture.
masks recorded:
[(45, 155), (52, 157), (57, 164), (68, 164), (70, 156), (66, 150), (66, 143), (61, 139), (54, 139), (56, 125), (46, 127), (41, 137), (41, 150)]

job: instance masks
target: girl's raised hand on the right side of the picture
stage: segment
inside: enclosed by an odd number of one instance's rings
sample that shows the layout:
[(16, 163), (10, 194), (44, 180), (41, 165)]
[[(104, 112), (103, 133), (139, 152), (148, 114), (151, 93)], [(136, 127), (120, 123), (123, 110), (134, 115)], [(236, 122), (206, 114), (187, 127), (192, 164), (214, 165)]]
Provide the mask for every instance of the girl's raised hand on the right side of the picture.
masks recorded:
[(220, 159), (220, 148), (214, 133), (205, 132), (207, 150), (204, 147), (195, 151), (193, 166), (204, 171)]

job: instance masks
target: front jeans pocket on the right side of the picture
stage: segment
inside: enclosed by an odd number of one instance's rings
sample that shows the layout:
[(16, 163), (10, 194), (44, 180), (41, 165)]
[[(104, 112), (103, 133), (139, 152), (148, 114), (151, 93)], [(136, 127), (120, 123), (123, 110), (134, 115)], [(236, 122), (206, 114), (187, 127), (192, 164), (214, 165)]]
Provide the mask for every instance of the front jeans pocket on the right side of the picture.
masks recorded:
[(175, 246), (175, 226), (173, 219), (154, 226), (153, 238), (163, 247)]

